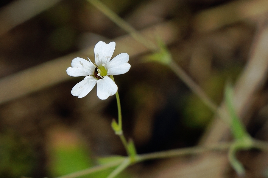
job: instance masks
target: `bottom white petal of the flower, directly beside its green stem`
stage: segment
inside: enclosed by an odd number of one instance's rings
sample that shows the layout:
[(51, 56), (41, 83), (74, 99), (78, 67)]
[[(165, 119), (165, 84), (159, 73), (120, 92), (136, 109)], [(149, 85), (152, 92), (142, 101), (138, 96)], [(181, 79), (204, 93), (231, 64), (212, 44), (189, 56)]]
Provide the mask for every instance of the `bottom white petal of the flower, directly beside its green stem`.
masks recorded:
[(102, 100), (116, 94), (117, 89), (115, 82), (108, 76), (104, 76), (97, 82), (97, 96)]

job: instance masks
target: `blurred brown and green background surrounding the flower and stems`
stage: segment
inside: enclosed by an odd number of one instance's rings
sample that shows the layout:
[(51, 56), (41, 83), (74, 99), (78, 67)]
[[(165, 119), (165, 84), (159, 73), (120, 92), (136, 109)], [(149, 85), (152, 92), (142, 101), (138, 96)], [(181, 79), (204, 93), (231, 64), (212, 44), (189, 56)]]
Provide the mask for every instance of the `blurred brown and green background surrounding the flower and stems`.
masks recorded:
[[(102, 0), (155, 42), (160, 36), (174, 61), (218, 105), (226, 80), (247, 131), (268, 138), (268, 1)], [(88, 1), (0, 2), (0, 177), (58, 177), (126, 155), (110, 123), (115, 96), (71, 95), (83, 77), (70, 77), (75, 57), (94, 61), (98, 41), (128, 53), (130, 71), (115, 76), (123, 130), (138, 153), (230, 140), (227, 126), (166, 66), (145, 62), (151, 51)], [(237, 154), (246, 177), (268, 177), (268, 155)], [(106, 177), (111, 170), (84, 177)], [(146, 161), (119, 177), (237, 177), (226, 152)]]

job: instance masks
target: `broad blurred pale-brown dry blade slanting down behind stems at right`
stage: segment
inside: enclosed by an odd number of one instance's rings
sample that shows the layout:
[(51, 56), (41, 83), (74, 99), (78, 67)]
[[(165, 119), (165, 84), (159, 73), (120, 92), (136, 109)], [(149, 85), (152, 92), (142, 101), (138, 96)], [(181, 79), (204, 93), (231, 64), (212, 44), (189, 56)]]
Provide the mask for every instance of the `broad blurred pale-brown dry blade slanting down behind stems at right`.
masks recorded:
[[(254, 99), (255, 93), (261, 89), (267, 79), (267, 42), (268, 27), (266, 26), (256, 35), (252, 45), (253, 54), (234, 85), (234, 101), (237, 113), (241, 118), (247, 114), (247, 109), (252, 107), (253, 102), (251, 101)], [(224, 107), (222, 111), (225, 111)], [(216, 118), (203, 136), (202, 144), (208, 145), (226, 140), (229, 138), (228, 131), (229, 128), (222, 119)], [(191, 162), (178, 159), (167, 160), (159, 165), (162, 171), (155, 177), (225, 177), (228, 164), (226, 154), (206, 154)], [(174, 166), (170, 166), (172, 164)]]

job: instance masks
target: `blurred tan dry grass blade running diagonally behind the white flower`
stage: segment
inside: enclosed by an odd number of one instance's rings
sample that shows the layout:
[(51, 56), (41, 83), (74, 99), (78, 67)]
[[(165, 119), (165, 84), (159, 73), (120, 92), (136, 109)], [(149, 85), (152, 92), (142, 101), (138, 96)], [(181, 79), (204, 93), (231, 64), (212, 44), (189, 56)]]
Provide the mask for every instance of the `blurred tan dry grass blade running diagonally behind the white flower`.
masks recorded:
[[(149, 39), (154, 39), (154, 34), (157, 34), (169, 44), (180, 35), (180, 28), (173, 22), (167, 22), (147, 28), (141, 31), (141, 34)], [(129, 35), (111, 41), (116, 42), (115, 55), (124, 51), (131, 58), (148, 52), (147, 48), (140, 45)], [(71, 79), (72, 77), (67, 75), (66, 69), (71, 66), (71, 60), (78, 56), (82, 58), (87, 58), (88, 56), (92, 59), (94, 46), (2, 78), (0, 80), (0, 104)]]

